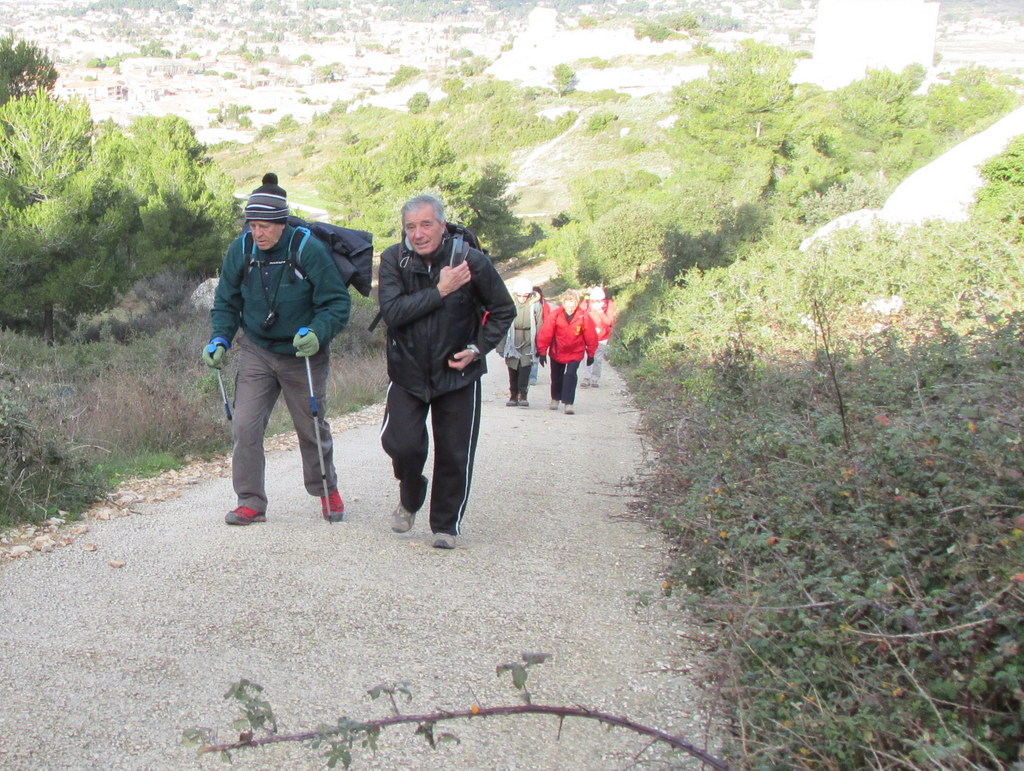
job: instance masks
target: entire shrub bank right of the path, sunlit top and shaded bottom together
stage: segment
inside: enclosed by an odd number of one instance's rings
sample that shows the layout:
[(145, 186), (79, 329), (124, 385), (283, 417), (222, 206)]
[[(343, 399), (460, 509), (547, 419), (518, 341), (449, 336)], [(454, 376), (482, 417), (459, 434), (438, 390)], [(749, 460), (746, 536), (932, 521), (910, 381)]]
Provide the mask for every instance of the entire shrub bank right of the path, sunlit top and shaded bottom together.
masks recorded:
[[(979, 199), (1019, 176), (1019, 153)], [(716, 238), (690, 237), (744, 259), (627, 285), (612, 343), (660, 459), (652, 511), (681, 548), (667, 594), (718, 629), (734, 754), (755, 769), (1009, 765), (1024, 728), (1019, 242), (973, 221), (797, 252), (763, 213), (720, 210)], [(761, 248), (716, 252), (730, 225)]]

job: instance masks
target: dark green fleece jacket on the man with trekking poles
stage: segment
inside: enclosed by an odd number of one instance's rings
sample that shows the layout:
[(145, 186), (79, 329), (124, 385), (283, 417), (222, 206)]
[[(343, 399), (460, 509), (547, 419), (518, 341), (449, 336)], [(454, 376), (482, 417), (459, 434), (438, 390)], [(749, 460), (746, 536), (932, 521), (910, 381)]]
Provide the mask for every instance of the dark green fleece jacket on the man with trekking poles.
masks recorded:
[[(286, 269), (288, 245), (293, 237), (298, 244), (302, 235), (303, 231), (288, 225), (268, 252), (256, 248), (252, 237), (240, 235), (231, 242), (210, 311), (214, 340), (219, 338), (230, 347), (241, 327), (257, 345), (294, 355), (292, 339), (300, 328), (312, 330), (322, 348), (345, 328), (352, 300), (323, 242), (310, 235), (302, 246), (298, 269)], [(244, 270), (247, 261), (248, 273)], [(271, 308), (278, 318), (264, 330)]]

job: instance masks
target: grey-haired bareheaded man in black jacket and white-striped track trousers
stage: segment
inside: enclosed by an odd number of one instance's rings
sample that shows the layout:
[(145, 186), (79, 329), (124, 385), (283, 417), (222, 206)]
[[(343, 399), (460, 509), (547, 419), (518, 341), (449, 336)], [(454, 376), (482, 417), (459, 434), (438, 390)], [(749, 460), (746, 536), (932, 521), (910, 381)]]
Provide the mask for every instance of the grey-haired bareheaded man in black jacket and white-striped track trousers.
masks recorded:
[(430, 529), (435, 547), (454, 549), (473, 477), (484, 357), (504, 340), (515, 304), (487, 256), (449, 233), (436, 198), (407, 202), (401, 225), (402, 242), (381, 255), (378, 285), (391, 379), (381, 443), (399, 489), (391, 529), (411, 529), (426, 501), (429, 413)]

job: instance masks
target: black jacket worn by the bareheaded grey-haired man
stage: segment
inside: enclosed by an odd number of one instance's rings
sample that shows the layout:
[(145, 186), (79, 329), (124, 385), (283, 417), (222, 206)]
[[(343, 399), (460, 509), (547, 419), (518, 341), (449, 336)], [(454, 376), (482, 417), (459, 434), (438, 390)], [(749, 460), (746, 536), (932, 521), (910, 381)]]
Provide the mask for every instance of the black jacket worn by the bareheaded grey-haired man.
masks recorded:
[[(378, 298), (387, 325), (387, 373), (391, 382), (414, 396), (434, 396), (463, 388), (487, 370), (484, 357), (505, 339), (515, 318), (515, 303), (490, 259), (475, 249), (465, 253), (472, 280), (441, 298), (437, 291), (443, 264), (459, 264), (453, 241), (438, 249), (443, 259), (427, 262), (400, 244), (381, 255)], [(486, 323), (480, 322), (486, 313)], [(470, 344), (480, 355), (463, 371), (447, 359)]]

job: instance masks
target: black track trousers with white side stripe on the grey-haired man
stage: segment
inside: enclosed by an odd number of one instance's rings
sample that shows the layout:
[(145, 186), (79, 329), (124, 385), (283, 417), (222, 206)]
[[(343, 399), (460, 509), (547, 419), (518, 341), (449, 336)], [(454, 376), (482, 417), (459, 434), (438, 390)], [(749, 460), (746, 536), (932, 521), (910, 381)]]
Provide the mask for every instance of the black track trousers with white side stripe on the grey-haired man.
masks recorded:
[(427, 498), (423, 467), (430, 447), (428, 413), (434, 437), (430, 530), (458, 536), (469, 500), (480, 433), (480, 381), (430, 401), (417, 398), (394, 383), (388, 386), (381, 445), (391, 458), (401, 505), (412, 512), (419, 511)]

